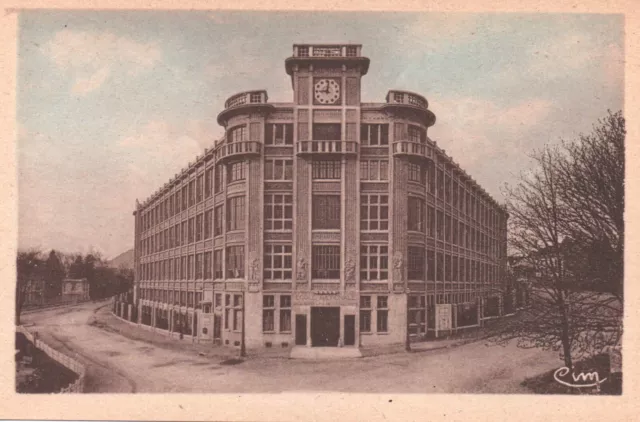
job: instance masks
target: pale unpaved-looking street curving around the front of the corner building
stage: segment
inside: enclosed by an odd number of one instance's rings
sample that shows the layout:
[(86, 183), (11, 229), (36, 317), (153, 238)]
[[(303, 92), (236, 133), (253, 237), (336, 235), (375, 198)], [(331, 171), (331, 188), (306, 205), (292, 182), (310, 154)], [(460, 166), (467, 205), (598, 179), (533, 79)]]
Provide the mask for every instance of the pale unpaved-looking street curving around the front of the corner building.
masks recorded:
[(524, 378), (562, 364), (554, 352), (480, 341), (334, 362), (274, 355), (220, 365), (235, 352), (219, 347), (200, 356), (190, 344), (153, 344), (90, 325), (96, 316), (108, 322), (108, 312), (105, 302), (88, 303), (26, 314), (22, 322), (87, 365), (87, 392), (528, 393), (519, 385)]

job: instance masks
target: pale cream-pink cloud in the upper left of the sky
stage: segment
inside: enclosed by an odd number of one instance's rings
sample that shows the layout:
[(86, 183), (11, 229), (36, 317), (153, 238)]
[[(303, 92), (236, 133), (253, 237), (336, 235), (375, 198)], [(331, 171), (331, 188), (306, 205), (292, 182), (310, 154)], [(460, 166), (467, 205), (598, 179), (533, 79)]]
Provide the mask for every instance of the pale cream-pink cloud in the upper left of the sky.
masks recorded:
[(43, 53), (56, 67), (76, 77), (72, 92), (92, 92), (112, 73), (134, 77), (148, 71), (162, 59), (155, 43), (140, 43), (110, 32), (64, 29), (43, 46)]

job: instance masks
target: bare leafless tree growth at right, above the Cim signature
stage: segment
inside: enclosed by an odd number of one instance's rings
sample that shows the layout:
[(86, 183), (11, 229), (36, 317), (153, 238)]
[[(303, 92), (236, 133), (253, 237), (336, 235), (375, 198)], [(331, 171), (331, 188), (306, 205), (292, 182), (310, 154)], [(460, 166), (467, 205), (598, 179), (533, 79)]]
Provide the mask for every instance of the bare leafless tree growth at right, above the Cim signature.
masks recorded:
[[(610, 114), (593, 134), (534, 153), (534, 170), (506, 188), (510, 247), (534, 276), (529, 306), (497, 325), (494, 338), (560, 350), (567, 367), (622, 333), (621, 119)], [(602, 250), (611, 252), (604, 270), (593, 265)], [(594, 278), (616, 287), (593, 289)]]

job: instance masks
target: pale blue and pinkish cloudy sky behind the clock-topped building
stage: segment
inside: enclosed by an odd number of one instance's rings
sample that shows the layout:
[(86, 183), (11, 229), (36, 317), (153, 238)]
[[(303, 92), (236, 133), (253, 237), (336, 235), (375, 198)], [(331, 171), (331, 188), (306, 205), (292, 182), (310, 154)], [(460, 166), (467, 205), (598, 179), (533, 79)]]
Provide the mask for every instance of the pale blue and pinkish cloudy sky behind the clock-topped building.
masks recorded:
[(533, 150), (623, 109), (622, 15), (24, 11), (18, 247), (130, 249), (136, 199), (221, 137), (226, 98), (292, 101), (294, 43), (363, 44), (362, 101), (424, 95), (429, 137), (499, 202)]

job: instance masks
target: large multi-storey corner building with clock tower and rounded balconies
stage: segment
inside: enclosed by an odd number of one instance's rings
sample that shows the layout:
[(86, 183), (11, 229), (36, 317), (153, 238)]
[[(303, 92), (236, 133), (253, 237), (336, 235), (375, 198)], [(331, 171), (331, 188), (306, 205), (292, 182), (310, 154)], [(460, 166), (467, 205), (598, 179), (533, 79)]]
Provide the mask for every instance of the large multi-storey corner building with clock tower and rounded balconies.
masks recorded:
[(362, 102), (361, 48), (294, 45), (291, 102), (226, 101), (224, 138), (136, 204), (120, 316), (230, 346), (375, 347), (514, 307), (507, 214), (428, 137), (425, 97)]

